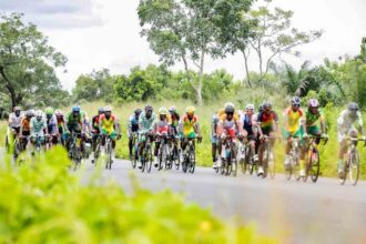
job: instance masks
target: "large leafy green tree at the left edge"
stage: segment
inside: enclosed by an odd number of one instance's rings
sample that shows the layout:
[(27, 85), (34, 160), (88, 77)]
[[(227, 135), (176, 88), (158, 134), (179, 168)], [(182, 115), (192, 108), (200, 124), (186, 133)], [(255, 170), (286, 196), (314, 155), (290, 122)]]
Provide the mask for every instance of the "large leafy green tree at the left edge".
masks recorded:
[(12, 106), (28, 96), (38, 96), (45, 102), (50, 90), (60, 91), (54, 69), (67, 62), (34, 24), (22, 22), (22, 16), (0, 17), (0, 87)]

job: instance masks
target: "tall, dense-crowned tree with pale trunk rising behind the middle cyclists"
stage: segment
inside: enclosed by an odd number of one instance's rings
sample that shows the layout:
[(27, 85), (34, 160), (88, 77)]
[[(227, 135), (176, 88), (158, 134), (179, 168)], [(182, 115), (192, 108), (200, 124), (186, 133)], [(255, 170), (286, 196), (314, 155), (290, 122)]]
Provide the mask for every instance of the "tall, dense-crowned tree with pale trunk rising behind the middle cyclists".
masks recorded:
[[(223, 47), (224, 42), (220, 41), (223, 29), (221, 27), (225, 22), (227, 24), (227, 21), (238, 12), (246, 11), (251, 2), (251, 0), (140, 1), (138, 12), (143, 28), (141, 34), (148, 38), (151, 49), (160, 57), (160, 61), (167, 65), (183, 62), (200, 105), (203, 104), (202, 89), (206, 58), (222, 58), (227, 52)], [(191, 75), (191, 70), (196, 70), (196, 79)]]

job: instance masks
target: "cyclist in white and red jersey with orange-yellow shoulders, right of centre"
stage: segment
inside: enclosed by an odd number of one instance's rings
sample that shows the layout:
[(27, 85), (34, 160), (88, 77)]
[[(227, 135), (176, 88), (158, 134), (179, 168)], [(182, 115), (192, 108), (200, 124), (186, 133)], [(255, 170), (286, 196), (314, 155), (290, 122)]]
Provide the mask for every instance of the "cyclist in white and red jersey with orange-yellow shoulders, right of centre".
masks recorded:
[[(227, 102), (224, 106), (224, 114), (220, 115), (217, 134), (220, 135), (218, 142), (218, 154), (222, 156), (222, 146), (225, 142), (226, 138), (235, 139), (243, 138), (243, 125), (240, 121), (237, 113), (235, 113), (235, 105), (231, 102)], [(224, 159), (222, 159), (224, 160)], [(221, 162), (218, 161), (218, 165), (221, 166)]]

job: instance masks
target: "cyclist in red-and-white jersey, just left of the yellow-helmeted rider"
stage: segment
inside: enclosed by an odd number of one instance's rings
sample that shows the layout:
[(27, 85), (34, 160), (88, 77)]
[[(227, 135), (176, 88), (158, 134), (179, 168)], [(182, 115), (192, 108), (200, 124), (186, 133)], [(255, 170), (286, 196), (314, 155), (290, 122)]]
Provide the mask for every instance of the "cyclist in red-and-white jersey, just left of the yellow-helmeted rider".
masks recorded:
[(161, 144), (161, 140), (159, 136), (167, 136), (169, 134), (169, 122), (167, 122), (167, 109), (166, 108), (160, 108), (159, 109), (159, 120), (154, 123), (154, 132), (155, 135), (157, 135), (155, 140), (155, 151), (154, 151), (154, 156), (155, 156), (155, 164), (154, 166), (157, 167), (159, 165), (159, 160), (157, 160), (157, 151)]

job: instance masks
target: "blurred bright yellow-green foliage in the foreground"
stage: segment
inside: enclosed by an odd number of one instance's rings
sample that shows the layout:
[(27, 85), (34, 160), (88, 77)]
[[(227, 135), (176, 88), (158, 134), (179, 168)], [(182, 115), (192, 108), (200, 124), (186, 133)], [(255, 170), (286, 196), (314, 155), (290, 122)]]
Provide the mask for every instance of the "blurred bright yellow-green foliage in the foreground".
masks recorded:
[(20, 167), (2, 162), (0, 243), (274, 242), (252, 227), (224, 224), (169, 191), (153, 194), (134, 183), (128, 195), (98, 175), (80, 183), (60, 148)]

